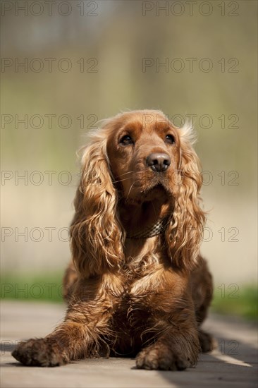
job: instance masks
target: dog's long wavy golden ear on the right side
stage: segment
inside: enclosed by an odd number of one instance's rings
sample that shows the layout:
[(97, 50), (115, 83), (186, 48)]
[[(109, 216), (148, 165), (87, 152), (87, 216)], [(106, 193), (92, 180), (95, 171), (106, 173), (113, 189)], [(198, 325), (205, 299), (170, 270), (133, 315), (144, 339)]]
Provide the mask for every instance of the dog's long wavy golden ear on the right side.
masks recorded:
[(205, 223), (204, 211), (199, 206), (202, 175), (199, 159), (192, 148), (192, 129), (185, 126), (178, 131), (180, 166), (177, 171), (177, 187), (174, 190), (173, 214), (166, 231), (166, 243), (173, 265), (190, 270), (197, 262)]

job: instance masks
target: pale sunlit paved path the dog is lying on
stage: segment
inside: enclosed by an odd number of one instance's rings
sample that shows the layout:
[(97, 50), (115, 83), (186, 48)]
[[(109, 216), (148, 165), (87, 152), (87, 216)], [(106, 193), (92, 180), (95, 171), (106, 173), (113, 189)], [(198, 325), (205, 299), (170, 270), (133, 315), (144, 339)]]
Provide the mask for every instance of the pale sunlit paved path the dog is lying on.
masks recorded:
[(1, 303), (2, 388), (257, 387), (257, 327), (216, 315), (204, 328), (214, 334), (218, 348), (200, 355), (197, 367), (183, 372), (137, 370), (135, 360), (125, 358), (81, 360), (58, 368), (28, 368), (12, 358), (18, 341), (51, 332), (64, 309), (45, 303)]

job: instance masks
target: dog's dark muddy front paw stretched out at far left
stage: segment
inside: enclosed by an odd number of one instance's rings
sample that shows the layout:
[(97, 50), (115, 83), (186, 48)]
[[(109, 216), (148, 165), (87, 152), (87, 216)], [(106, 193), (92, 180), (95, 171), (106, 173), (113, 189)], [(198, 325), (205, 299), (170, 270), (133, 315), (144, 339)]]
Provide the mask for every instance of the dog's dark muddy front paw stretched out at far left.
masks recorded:
[(59, 366), (68, 363), (58, 342), (51, 338), (29, 339), (18, 344), (12, 356), (24, 365)]

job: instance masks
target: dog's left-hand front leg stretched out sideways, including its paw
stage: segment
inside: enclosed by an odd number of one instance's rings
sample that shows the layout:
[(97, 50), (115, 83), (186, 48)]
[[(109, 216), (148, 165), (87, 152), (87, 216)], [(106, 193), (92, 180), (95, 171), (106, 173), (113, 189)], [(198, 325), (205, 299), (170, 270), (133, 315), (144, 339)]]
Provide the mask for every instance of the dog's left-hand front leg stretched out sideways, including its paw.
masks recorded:
[(64, 322), (45, 338), (18, 344), (13, 357), (24, 365), (56, 366), (102, 353), (115, 300), (99, 284), (101, 281), (78, 284)]

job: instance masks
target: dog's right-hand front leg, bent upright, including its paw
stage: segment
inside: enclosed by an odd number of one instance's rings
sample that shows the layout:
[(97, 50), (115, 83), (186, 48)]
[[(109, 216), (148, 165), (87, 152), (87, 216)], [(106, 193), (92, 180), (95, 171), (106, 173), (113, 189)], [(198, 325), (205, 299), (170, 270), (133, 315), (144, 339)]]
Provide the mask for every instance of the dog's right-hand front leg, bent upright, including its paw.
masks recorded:
[[(195, 307), (188, 279), (173, 272), (149, 278), (146, 305), (152, 306), (147, 328), (142, 333), (143, 346), (136, 358), (137, 368), (183, 370), (197, 363), (199, 347)], [(140, 291), (135, 297), (138, 303)], [(145, 291), (143, 291), (145, 292)], [(154, 308), (155, 306), (155, 308)]]

